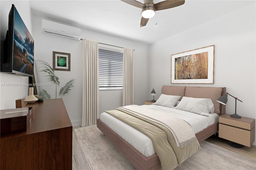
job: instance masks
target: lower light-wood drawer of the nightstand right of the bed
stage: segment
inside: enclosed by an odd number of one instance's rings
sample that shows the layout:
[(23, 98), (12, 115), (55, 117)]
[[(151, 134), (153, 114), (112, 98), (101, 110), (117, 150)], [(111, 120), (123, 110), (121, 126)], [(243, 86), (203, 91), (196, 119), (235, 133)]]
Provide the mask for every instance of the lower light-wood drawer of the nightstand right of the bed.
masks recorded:
[(255, 136), (255, 127), (252, 130), (232, 127), (219, 123), (219, 137), (244, 146), (252, 146)]

